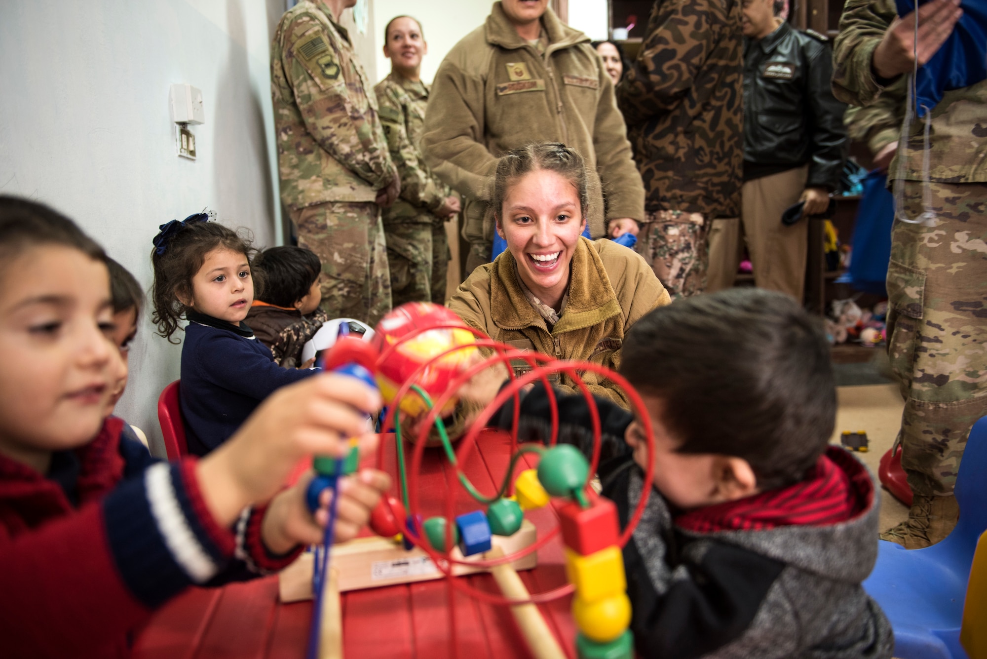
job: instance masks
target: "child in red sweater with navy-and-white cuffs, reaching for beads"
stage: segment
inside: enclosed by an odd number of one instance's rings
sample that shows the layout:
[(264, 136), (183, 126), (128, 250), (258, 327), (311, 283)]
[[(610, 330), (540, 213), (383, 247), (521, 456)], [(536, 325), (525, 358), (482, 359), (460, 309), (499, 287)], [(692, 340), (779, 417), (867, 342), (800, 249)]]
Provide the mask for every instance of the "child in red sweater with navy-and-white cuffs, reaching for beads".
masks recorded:
[[(70, 220), (0, 196), (0, 638), (5, 657), (125, 657), (190, 585), (277, 570), (320, 543), (311, 475), (341, 456), (379, 395), (324, 374), (278, 392), (209, 456), (158, 462), (107, 418), (119, 351), (106, 255)], [(341, 484), (336, 539), (369, 518), (386, 474)]]

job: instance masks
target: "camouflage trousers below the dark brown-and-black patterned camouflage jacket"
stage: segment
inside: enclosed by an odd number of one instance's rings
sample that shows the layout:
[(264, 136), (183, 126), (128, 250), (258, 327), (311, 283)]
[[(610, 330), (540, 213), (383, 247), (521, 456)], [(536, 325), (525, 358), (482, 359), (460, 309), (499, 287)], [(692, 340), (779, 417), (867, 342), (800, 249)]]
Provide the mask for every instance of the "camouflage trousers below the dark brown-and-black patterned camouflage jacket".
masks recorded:
[(647, 213), (635, 250), (673, 299), (689, 297), (706, 289), (709, 235), (702, 213), (659, 210)]

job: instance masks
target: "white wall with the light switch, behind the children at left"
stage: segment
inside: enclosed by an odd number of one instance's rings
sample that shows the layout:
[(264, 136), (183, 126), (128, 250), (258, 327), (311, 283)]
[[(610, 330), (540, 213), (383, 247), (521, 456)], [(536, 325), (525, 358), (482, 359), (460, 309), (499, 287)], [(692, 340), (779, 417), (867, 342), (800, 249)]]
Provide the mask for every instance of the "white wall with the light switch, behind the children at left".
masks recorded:
[[(276, 235), (268, 44), (284, 0), (4, 0), (0, 193), (79, 222), (149, 288), (158, 225), (202, 208)], [(198, 160), (175, 153), (172, 83), (202, 90)], [(117, 413), (160, 450), (158, 394), (181, 346), (145, 314)]]

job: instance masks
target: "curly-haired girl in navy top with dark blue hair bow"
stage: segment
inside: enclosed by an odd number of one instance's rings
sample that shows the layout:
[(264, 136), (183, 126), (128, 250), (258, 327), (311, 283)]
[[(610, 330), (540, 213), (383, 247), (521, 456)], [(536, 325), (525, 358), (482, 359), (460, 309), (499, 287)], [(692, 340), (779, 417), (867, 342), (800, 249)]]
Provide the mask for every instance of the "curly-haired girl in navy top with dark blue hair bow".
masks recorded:
[(152, 321), (172, 340), (182, 318), (189, 320), (179, 398), (189, 451), (197, 456), (226, 441), (279, 387), (315, 373), (278, 366), (243, 322), (260, 281), (253, 271), (255, 250), (207, 220), (199, 213), (162, 225), (151, 252)]

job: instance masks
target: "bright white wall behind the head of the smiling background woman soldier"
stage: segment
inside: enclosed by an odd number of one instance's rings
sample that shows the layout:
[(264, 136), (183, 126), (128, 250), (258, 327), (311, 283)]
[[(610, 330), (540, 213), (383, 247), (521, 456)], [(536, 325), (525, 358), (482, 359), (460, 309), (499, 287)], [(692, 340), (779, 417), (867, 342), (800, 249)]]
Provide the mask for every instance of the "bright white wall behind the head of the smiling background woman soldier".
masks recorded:
[[(428, 42), (428, 54), (421, 62), (421, 79), (431, 82), (446, 53), (459, 39), (484, 24), (491, 13), (492, 5), (492, 0), (428, 0), (417, 3), (407, 0), (371, 0), (373, 23), (376, 26), (373, 33), (377, 43), (376, 80), (382, 80), (391, 72), (391, 60), (383, 53), (384, 27), (395, 16), (409, 14), (421, 22), (421, 30)], [(372, 75), (369, 69), (367, 74)]]

